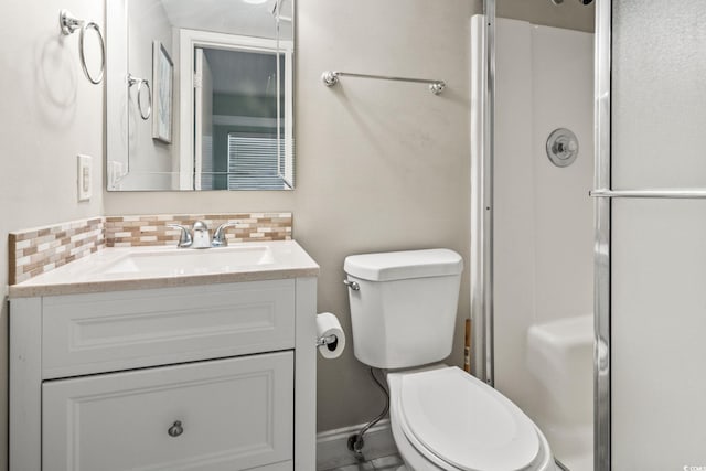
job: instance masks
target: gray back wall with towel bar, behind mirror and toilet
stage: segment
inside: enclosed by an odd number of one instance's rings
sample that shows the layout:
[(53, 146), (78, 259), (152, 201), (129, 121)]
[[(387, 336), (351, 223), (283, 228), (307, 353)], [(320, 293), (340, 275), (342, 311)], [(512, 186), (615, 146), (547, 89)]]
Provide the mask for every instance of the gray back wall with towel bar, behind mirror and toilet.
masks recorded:
[[(450, 247), (468, 260), (467, 44), (474, 9), (466, 0), (445, 4), (300, 1), (293, 192), (110, 193), (106, 213), (292, 211), (295, 238), (321, 265), (318, 309), (339, 314), (349, 332), (341, 282), (346, 255)], [(437, 97), (424, 85), (354, 78), (327, 88), (320, 79), (325, 69), (438, 77), (448, 89)], [(450, 358), (456, 364), (462, 362), (468, 285), (467, 270)], [(362, 422), (381, 407), (352, 349), (319, 362), (319, 429)]]

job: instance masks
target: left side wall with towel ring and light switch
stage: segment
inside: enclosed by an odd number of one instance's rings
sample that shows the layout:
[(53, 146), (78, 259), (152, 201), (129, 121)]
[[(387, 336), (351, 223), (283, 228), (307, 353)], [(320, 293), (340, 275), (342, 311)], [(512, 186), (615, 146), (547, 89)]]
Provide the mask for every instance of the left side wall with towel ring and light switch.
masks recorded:
[[(78, 35), (61, 38), (58, 10), (104, 22), (103, 2), (10, 2), (0, 33), (0, 287), (8, 232), (103, 212), (103, 86), (78, 63)], [(93, 197), (76, 202), (76, 154), (93, 156)], [(2, 293), (4, 296), (4, 292)], [(7, 463), (7, 324), (0, 315), (0, 469)]]

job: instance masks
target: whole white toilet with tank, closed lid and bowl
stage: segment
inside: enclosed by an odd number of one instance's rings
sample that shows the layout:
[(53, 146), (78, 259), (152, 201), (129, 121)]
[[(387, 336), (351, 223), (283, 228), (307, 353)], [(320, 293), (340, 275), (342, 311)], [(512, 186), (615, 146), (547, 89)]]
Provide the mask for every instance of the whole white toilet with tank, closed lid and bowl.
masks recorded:
[(555, 471), (544, 435), (449, 356), (463, 260), (447, 249), (345, 259), (353, 350), (387, 374), (400, 470)]

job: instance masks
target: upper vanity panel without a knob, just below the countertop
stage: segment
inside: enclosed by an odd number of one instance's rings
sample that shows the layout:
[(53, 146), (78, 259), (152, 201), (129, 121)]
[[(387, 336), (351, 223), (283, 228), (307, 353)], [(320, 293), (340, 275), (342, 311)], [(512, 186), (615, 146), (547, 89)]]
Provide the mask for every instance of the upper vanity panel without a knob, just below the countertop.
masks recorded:
[(292, 349), (295, 280), (42, 299), (42, 377)]

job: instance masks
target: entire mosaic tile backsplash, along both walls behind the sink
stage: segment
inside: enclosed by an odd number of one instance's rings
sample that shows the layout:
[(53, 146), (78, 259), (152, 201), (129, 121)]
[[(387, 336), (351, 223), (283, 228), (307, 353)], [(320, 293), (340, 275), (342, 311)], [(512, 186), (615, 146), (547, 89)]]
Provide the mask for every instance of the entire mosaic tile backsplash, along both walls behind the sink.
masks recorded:
[(106, 216), (10, 233), (9, 283), (38, 275), (90, 255), (104, 247), (176, 245), (180, 229), (206, 223), (211, 233), (223, 223), (240, 223), (226, 232), (228, 242), (290, 240), (291, 213), (157, 214)]

